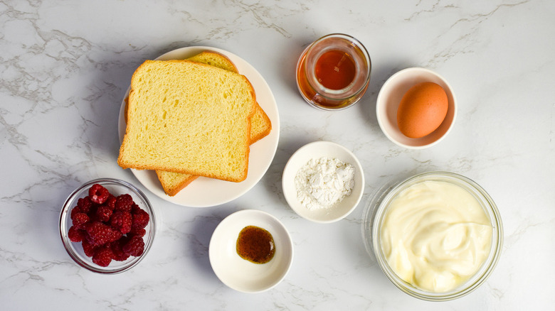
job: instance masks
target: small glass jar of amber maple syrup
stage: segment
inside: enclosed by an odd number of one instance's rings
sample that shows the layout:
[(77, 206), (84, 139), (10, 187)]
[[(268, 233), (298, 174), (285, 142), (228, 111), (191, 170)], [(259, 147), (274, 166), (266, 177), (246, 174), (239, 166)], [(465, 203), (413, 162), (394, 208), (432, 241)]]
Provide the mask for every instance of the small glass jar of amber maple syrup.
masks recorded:
[(312, 106), (324, 110), (351, 107), (370, 81), (371, 62), (364, 45), (332, 33), (309, 45), (297, 62), (297, 87)]

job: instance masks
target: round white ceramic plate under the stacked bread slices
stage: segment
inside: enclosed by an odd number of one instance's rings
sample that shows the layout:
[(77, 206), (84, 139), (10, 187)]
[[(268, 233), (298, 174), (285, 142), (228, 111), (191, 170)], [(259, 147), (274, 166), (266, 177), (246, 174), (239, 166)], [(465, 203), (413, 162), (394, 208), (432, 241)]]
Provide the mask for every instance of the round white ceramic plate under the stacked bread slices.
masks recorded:
[[(190, 58), (204, 50), (211, 50), (229, 58), (237, 67), (241, 75), (245, 75), (255, 89), (256, 102), (262, 107), (270, 121), (272, 131), (268, 136), (250, 145), (250, 158), (248, 162), (248, 175), (242, 182), (226, 182), (212, 178), (199, 177), (174, 197), (166, 195), (162, 185), (153, 170), (133, 170), (132, 172), (148, 190), (162, 199), (183, 205), (186, 207), (211, 207), (235, 200), (250, 190), (263, 177), (272, 163), (277, 149), (277, 141), (280, 138), (280, 116), (277, 112), (277, 104), (268, 83), (262, 75), (248, 62), (233, 53), (218, 48), (206, 46), (191, 46), (172, 50), (157, 60), (181, 60)], [(129, 96), (129, 89), (125, 94), (120, 109), (119, 134), (120, 143), (125, 135), (125, 98)]]

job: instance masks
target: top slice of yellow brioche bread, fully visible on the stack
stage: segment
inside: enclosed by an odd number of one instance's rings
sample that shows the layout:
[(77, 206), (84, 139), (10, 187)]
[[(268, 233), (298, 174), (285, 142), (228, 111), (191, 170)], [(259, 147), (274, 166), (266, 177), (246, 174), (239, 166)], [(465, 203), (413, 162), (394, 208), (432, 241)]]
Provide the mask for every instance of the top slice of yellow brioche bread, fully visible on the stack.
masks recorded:
[(189, 60), (147, 60), (132, 76), (118, 164), (240, 182), (254, 111), (254, 89), (243, 75)]

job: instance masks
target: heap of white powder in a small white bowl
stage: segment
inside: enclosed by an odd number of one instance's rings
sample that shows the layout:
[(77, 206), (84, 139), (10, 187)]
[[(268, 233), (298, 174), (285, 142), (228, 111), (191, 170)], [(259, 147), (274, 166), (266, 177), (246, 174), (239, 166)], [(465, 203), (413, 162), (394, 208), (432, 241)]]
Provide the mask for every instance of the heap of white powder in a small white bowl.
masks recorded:
[(354, 167), (335, 158), (311, 159), (295, 175), (297, 200), (307, 209), (327, 209), (351, 195)]

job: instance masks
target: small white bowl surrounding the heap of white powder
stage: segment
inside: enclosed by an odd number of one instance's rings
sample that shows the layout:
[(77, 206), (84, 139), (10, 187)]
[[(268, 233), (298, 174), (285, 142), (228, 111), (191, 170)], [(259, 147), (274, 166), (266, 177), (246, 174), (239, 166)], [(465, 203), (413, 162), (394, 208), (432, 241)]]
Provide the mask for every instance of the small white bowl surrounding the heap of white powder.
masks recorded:
[[(354, 187), (351, 195), (345, 197), (341, 202), (329, 209), (307, 209), (297, 200), (297, 187), (295, 187), (295, 176), (303, 165), (311, 159), (322, 157), (337, 158), (344, 163), (354, 166)], [(315, 141), (295, 151), (287, 161), (282, 175), (283, 195), (287, 204), (300, 216), (312, 222), (330, 223), (337, 222), (356, 208), (364, 193), (364, 172), (362, 165), (349, 149), (337, 143), (329, 141)]]

